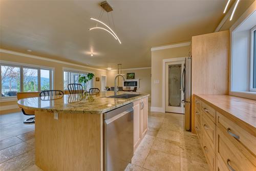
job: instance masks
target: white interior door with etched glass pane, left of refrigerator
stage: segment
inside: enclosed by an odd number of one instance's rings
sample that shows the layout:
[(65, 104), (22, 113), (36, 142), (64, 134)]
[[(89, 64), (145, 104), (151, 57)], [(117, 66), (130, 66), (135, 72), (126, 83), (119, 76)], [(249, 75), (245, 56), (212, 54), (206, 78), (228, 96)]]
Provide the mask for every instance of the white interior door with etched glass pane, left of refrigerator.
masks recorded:
[(184, 61), (165, 63), (165, 112), (184, 114), (183, 69)]

